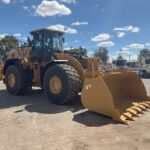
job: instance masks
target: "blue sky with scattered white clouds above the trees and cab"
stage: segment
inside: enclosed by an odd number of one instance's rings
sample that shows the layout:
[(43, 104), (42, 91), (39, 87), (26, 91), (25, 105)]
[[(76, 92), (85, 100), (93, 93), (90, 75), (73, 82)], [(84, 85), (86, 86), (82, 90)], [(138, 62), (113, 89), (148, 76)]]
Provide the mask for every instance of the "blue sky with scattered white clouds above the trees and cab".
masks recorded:
[(65, 48), (106, 46), (110, 60), (122, 50), (136, 59), (150, 48), (149, 0), (0, 0), (0, 38), (21, 40), (39, 28), (65, 31)]

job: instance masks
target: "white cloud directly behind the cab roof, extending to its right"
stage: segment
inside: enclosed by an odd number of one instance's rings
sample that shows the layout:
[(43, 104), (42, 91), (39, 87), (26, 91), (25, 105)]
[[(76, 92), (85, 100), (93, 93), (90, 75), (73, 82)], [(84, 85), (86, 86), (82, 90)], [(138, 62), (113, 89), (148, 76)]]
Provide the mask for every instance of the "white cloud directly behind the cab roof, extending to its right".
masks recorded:
[(72, 28), (69, 28), (69, 27), (61, 25), (61, 24), (49, 26), (48, 29), (62, 31), (62, 32), (66, 32), (66, 33), (72, 33), (72, 34), (77, 33), (76, 29), (72, 29)]

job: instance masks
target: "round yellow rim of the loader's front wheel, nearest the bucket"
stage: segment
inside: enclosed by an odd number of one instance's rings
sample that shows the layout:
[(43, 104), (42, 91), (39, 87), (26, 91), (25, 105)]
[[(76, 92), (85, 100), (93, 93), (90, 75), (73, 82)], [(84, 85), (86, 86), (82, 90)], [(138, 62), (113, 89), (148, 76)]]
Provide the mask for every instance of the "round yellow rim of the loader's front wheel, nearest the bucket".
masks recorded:
[(49, 88), (53, 94), (59, 94), (62, 90), (62, 81), (59, 77), (53, 76), (49, 82)]

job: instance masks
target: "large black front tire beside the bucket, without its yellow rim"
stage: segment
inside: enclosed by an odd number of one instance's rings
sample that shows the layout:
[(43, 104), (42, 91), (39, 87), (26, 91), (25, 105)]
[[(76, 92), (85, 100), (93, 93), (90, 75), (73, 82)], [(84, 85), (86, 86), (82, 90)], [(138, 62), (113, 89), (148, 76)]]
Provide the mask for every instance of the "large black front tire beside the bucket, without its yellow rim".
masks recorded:
[[(62, 90), (59, 94), (53, 94), (49, 87), (51, 77), (57, 76), (62, 81)], [(51, 66), (44, 75), (44, 92), (49, 100), (58, 105), (68, 104), (77, 97), (80, 92), (81, 82), (78, 72), (67, 64)]]

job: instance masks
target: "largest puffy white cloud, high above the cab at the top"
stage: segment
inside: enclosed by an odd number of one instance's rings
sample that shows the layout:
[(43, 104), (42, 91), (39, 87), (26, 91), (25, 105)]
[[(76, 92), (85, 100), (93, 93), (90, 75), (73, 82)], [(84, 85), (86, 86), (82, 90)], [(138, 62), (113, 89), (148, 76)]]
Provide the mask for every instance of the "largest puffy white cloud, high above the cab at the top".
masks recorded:
[(56, 16), (56, 15), (70, 15), (72, 12), (63, 4), (59, 4), (57, 1), (47, 1), (44, 0), (36, 8), (35, 14), (46, 17), (46, 16)]

